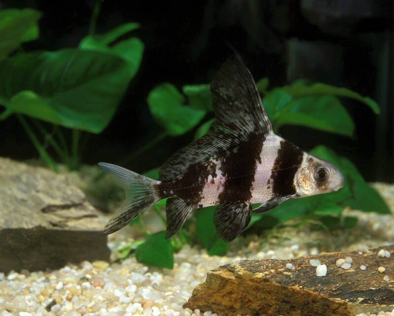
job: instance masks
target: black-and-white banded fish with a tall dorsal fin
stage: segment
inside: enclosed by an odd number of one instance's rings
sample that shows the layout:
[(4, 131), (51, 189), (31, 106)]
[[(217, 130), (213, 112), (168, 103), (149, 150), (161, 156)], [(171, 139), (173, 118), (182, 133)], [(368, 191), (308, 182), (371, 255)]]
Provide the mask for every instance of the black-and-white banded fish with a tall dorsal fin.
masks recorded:
[[(118, 231), (168, 198), (166, 239), (179, 231), (194, 209), (217, 206), (216, 232), (231, 242), (248, 226), (252, 213), (344, 186), (335, 165), (274, 134), (253, 76), (238, 55), (231, 55), (213, 76), (210, 90), (216, 121), (164, 163), (159, 180), (98, 164), (126, 192), (104, 234)], [(252, 209), (256, 203), (261, 205)]]

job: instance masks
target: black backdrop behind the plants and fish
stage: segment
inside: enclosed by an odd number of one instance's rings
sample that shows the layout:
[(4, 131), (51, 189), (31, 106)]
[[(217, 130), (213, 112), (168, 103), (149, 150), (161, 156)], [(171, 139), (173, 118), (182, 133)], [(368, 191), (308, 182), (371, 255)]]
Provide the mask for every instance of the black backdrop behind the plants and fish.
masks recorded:
[[(282, 127), (280, 134), (306, 150), (317, 144), (330, 146), (350, 158), (368, 181), (394, 182), (391, 0), (103, 0), (99, 4), (96, 32), (138, 22), (141, 28), (129, 36), (139, 37), (145, 50), (111, 123), (99, 135), (84, 133), (83, 163), (106, 161), (144, 172), (189, 143), (195, 131), (167, 137), (141, 152), (161, 133), (146, 98), (165, 81), (179, 89), (208, 83), (230, 55), (230, 43), (254, 78), (267, 76), (270, 87), (307, 77), (374, 99), (380, 115), (341, 99), (356, 123), (354, 139), (297, 126)], [(77, 46), (88, 34), (95, 5), (95, 0), (0, 1), (0, 9), (30, 7), (43, 13), (39, 39), (24, 44), (25, 51)], [(1, 156), (38, 157), (16, 118), (1, 122), (0, 136)]]

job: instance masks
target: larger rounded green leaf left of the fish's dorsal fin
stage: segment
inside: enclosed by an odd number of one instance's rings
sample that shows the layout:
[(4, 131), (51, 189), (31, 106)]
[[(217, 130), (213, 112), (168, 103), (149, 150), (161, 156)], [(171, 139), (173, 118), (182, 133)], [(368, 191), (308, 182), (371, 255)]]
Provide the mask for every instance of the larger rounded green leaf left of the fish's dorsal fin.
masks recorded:
[(169, 83), (163, 83), (149, 93), (148, 104), (152, 116), (168, 135), (186, 133), (205, 116), (205, 110), (183, 105), (184, 102), (183, 95)]

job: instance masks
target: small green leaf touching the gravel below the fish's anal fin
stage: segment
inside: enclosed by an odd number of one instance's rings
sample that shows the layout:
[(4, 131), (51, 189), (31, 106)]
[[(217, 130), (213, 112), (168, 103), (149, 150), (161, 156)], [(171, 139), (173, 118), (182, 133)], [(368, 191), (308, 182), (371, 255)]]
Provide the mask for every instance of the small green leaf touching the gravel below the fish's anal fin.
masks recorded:
[(165, 231), (150, 235), (135, 249), (135, 257), (138, 262), (150, 266), (172, 269), (174, 256), (171, 239), (165, 239)]

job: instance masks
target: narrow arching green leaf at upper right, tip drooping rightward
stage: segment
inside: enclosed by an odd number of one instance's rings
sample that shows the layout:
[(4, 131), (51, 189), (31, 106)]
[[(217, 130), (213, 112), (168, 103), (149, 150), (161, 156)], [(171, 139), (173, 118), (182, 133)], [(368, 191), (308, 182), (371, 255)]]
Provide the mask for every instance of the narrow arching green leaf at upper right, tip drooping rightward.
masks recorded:
[(380, 112), (379, 106), (375, 101), (368, 97), (362, 97), (357, 92), (346, 88), (334, 87), (325, 83), (314, 83), (311, 85), (305, 85), (300, 82), (296, 82), (290, 86), (282, 88), (287, 93), (291, 94), (294, 98), (300, 98), (312, 95), (331, 95), (337, 97), (347, 97), (356, 99), (366, 105), (368, 105), (376, 114)]

